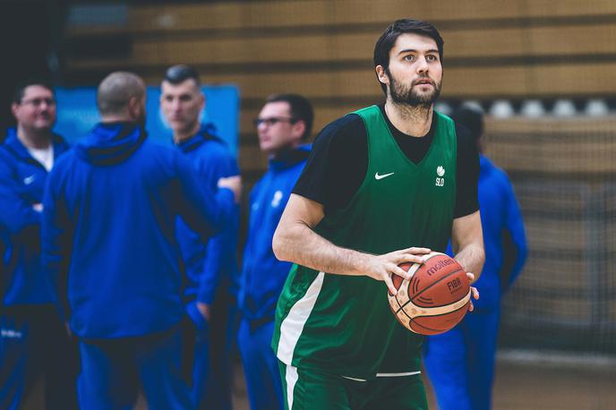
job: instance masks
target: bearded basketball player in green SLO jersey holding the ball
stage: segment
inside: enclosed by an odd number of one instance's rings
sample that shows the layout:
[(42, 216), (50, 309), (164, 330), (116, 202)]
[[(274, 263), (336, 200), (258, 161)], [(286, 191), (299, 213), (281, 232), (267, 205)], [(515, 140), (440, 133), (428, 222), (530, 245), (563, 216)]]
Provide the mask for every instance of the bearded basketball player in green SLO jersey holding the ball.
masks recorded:
[(379, 281), (396, 294), (398, 264), (449, 237), (467, 272), (483, 266), (477, 151), (433, 110), (442, 46), (430, 23), (389, 26), (374, 48), (385, 103), (321, 131), (288, 201), (273, 249), (295, 265), (272, 339), (287, 408), (427, 408), (423, 337), (397, 322)]

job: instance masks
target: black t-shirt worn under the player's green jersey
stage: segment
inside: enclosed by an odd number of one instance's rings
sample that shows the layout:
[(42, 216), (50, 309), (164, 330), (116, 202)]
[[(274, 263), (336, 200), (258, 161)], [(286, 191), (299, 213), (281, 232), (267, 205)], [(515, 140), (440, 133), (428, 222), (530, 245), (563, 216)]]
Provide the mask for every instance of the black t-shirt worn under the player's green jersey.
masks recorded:
[[(402, 152), (415, 164), (419, 163), (430, 149), (437, 116), (432, 115), (430, 131), (423, 138), (415, 138), (398, 131), (389, 121), (385, 107), (382, 104), (379, 107)], [(479, 156), (470, 132), (464, 126), (456, 124), (456, 135), (458, 165), (454, 218), (460, 218), (479, 209)], [(345, 115), (319, 132), (293, 193), (319, 202), (327, 215), (347, 207), (364, 182), (366, 172), (368, 137), (364, 121), (359, 115)]]

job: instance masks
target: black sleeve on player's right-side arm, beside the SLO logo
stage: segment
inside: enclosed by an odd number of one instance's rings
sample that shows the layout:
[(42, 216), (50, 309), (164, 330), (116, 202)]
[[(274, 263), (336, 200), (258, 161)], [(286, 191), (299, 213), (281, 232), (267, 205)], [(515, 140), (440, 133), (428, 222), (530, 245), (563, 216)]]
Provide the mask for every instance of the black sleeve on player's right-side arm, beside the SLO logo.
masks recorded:
[(461, 218), (479, 209), (477, 200), (479, 154), (471, 132), (465, 126), (456, 124), (456, 135), (458, 136), (458, 166), (454, 218)]

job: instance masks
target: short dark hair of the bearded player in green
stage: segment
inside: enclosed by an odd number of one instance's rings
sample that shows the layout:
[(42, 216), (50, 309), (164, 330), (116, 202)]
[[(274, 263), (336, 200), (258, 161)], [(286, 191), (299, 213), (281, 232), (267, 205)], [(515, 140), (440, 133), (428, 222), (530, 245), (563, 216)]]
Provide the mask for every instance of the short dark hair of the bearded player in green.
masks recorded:
[[(396, 44), (396, 40), (400, 34), (406, 33), (414, 33), (432, 38), (436, 42), (436, 47), (439, 48), (439, 57), (442, 61), (444, 41), (441, 38), (441, 34), (439, 34), (439, 30), (436, 30), (436, 27), (426, 21), (401, 19), (391, 23), (374, 45), (375, 67), (381, 65), (383, 69), (389, 69), (389, 51), (391, 51), (391, 48)], [(379, 84), (381, 84), (383, 92), (387, 94), (387, 86), (381, 81), (379, 81)]]

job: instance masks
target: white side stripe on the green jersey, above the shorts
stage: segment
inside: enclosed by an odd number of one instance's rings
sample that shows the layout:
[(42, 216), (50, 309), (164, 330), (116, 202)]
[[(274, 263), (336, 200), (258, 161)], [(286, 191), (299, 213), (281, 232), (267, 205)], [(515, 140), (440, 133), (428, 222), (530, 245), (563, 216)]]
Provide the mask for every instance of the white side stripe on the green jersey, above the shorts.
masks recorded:
[(325, 273), (319, 272), (308, 287), (305, 295), (291, 307), (285, 320), (282, 320), (282, 323), (280, 323), (280, 340), (278, 340), (277, 355), (282, 363), (291, 364), (293, 360), (295, 346), (297, 346), (299, 337), (302, 336), (304, 325), (310, 317), (317, 297), (321, 293), (324, 278)]

